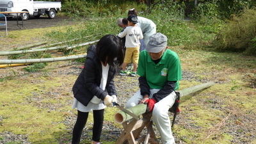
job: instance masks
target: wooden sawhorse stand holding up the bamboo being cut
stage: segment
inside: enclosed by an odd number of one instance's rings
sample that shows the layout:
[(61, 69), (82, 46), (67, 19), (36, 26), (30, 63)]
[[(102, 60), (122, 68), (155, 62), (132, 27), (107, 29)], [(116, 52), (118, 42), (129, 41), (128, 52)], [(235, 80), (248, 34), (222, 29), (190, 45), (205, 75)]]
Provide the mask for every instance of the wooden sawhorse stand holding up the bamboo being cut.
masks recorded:
[[(116, 141), (116, 144), (122, 144), (125, 140), (129, 144), (137, 144), (144, 141), (144, 144), (157, 144), (156, 135), (153, 130), (153, 122), (151, 120), (152, 113), (143, 114), (143, 118), (139, 120), (132, 120), (131, 122), (123, 122), (124, 131)], [(147, 134), (140, 136), (140, 132), (147, 127)]]

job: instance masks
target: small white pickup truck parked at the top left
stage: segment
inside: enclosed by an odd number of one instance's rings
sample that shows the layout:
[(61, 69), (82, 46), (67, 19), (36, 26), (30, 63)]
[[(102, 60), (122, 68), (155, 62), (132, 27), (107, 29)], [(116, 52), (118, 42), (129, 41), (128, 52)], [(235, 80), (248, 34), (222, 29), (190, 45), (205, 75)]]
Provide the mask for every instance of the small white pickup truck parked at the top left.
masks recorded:
[[(0, 0), (0, 12), (28, 12), (22, 13), (22, 19), (28, 20), (30, 16), (36, 18), (47, 14), (50, 19), (54, 19), (56, 13), (61, 10), (61, 2), (56, 1), (33, 1), (33, 0)], [(12, 19), (17, 14), (4, 14), (8, 19)]]

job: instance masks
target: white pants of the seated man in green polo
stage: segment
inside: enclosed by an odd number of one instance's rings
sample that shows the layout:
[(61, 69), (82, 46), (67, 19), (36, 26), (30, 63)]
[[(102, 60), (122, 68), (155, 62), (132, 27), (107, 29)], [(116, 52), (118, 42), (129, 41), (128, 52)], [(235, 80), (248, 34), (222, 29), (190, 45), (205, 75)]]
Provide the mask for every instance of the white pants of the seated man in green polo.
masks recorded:
[[(154, 93), (157, 93), (158, 89), (150, 89), (149, 98), (152, 98)], [(131, 99), (127, 101), (125, 104), (125, 108), (131, 108), (140, 103), (140, 100), (143, 99), (143, 96), (140, 94), (140, 90), (136, 92)], [(161, 136), (161, 142), (163, 144), (173, 144), (175, 140), (172, 136), (172, 127), (171, 121), (168, 115), (168, 110), (172, 108), (176, 99), (176, 93), (172, 92), (170, 95), (164, 97), (164, 99), (160, 100), (154, 105), (154, 109), (152, 112), (152, 118), (156, 124), (157, 130)]]

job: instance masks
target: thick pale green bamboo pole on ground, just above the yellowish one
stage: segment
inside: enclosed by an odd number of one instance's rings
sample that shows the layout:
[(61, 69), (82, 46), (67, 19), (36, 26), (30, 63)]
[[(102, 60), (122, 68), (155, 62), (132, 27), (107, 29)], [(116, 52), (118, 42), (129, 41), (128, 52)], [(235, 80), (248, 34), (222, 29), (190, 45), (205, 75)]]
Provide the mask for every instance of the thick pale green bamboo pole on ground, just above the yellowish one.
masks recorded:
[(79, 58), (85, 58), (86, 55), (79, 56), (65, 56), (60, 58), (38, 58), (38, 59), (23, 59), (23, 60), (0, 60), (0, 64), (12, 64), (12, 63), (45, 63), (54, 61), (66, 61), (75, 60)]

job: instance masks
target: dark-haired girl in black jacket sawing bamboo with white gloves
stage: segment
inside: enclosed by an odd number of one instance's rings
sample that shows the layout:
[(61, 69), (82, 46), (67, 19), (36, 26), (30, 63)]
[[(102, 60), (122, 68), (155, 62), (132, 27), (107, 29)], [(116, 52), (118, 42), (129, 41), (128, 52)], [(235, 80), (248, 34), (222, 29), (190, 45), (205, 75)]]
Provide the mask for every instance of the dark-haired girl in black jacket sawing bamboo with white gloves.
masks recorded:
[(104, 121), (104, 109), (116, 102), (113, 78), (116, 64), (122, 65), (124, 52), (122, 43), (115, 35), (105, 35), (97, 45), (87, 49), (84, 68), (76, 79), (72, 91), (77, 108), (77, 121), (72, 134), (72, 144), (79, 143), (89, 111), (93, 111), (92, 143), (99, 144)]

